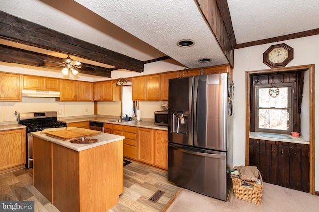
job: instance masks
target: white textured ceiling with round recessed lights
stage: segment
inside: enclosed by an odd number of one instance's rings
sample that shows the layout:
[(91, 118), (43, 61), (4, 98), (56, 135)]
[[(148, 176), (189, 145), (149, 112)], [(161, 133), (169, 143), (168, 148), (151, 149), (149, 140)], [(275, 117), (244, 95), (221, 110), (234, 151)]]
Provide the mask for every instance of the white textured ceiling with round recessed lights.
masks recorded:
[[(237, 44), (319, 28), (319, 0), (227, 2)], [(228, 63), (195, 0), (1, 0), (0, 10), (141, 61)], [(182, 39), (195, 45), (177, 46)]]

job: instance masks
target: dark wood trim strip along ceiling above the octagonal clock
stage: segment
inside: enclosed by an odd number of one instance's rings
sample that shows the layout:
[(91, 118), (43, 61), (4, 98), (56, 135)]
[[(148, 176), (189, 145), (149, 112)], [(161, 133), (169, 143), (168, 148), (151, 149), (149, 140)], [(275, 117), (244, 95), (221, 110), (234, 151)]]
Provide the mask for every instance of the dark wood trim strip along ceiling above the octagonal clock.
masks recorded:
[(235, 46), (235, 49), (245, 48), (245, 47), (249, 47), (249, 46), (262, 45), (262, 44), (266, 44), (266, 43), (286, 41), (286, 40), (290, 40), (290, 39), (302, 38), (302, 37), (318, 35), (318, 34), (319, 34), (319, 29), (312, 29), (312, 30), (308, 30), (308, 31), (304, 31), (304, 32), (298, 32), (298, 33), (293, 33), (293, 34), (289, 34), (289, 35), (282, 35), (282, 36), (278, 36), (278, 37), (274, 37), (274, 38), (268, 38), (268, 39), (263, 39), (263, 40), (258, 40), (258, 41), (237, 44)]

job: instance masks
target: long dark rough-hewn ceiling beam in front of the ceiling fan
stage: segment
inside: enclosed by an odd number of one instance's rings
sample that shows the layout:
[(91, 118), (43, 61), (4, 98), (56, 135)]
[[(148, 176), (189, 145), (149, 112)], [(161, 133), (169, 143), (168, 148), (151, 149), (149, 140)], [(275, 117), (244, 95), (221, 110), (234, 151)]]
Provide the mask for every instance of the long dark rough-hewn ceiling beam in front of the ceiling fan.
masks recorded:
[(0, 11), (0, 38), (103, 64), (143, 72), (143, 61)]

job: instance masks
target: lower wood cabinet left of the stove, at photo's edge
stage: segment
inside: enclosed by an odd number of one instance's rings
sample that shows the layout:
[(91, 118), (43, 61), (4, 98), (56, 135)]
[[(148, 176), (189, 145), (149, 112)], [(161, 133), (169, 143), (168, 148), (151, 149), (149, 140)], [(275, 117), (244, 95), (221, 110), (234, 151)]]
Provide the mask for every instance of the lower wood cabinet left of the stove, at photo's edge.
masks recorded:
[(24, 167), (25, 129), (0, 131), (0, 174)]

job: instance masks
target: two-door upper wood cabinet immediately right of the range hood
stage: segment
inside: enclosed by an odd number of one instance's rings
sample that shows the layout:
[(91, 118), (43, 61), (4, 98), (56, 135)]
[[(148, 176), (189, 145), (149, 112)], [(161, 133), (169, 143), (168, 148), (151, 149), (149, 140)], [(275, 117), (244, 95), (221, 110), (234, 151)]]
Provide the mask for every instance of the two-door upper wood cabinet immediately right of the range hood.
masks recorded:
[(92, 101), (91, 82), (61, 80), (60, 101)]

